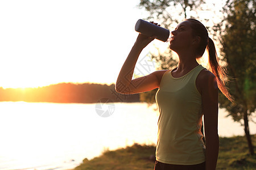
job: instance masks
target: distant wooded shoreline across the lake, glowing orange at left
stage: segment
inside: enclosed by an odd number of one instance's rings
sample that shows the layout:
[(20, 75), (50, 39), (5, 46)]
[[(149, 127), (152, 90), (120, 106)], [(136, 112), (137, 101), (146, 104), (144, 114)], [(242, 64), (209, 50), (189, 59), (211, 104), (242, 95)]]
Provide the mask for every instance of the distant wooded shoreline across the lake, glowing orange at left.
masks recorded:
[(114, 84), (59, 83), (38, 88), (2, 88), (0, 101), (25, 101), (47, 103), (98, 103), (139, 102), (139, 94), (123, 95), (115, 91)]

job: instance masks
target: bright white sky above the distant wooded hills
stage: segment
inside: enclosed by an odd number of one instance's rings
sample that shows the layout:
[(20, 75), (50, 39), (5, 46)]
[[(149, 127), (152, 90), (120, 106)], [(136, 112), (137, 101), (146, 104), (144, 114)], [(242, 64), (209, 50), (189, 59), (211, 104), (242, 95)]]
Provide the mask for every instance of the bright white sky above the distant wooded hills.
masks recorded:
[[(0, 87), (115, 83), (137, 38), (135, 23), (147, 16), (138, 3), (0, 1)], [(154, 41), (159, 48), (167, 45)], [(154, 46), (140, 58), (145, 60)]]

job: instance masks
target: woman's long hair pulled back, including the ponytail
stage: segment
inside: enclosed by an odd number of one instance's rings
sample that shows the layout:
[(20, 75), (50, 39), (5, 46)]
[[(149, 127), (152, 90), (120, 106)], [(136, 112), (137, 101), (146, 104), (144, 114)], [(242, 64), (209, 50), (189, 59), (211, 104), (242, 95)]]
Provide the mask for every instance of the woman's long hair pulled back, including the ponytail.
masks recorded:
[(205, 49), (207, 48), (209, 57), (209, 70), (216, 76), (218, 89), (224, 94), (230, 101), (234, 101), (233, 97), (229, 94), (228, 89), (225, 86), (225, 80), (227, 75), (225, 70), (218, 63), (218, 56), (216, 53), (215, 45), (212, 39), (208, 36), (208, 31), (205, 26), (196, 19), (187, 19), (191, 22), (191, 28), (193, 36), (199, 36), (201, 41), (197, 49), (197, 54), (203, 56)]

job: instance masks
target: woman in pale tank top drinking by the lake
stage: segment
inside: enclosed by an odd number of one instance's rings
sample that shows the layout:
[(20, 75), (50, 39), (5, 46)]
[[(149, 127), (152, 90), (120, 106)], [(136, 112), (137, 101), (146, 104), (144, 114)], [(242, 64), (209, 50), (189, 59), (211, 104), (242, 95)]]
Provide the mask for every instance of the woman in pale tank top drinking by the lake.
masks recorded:
[[(179, 56), (178, 66), (132, 79), (139, 54), (155, 39), (139, 34), (122, 66), (115, 89), (122, 94), (135, 94), (159, 88), (156, 93), (160, 116), (155, 170), (216, 169), (218, 88), (232, 100), (225, 88), (225, 73), (218, 65), (216, 49), (207, 29), (198, 20), (187, 19), (171, 33), (170, 49)], [(196, 61), (203, 56), (205, 48), (210, 71)], [(203, 115), (207, 147), (201, 133)]]

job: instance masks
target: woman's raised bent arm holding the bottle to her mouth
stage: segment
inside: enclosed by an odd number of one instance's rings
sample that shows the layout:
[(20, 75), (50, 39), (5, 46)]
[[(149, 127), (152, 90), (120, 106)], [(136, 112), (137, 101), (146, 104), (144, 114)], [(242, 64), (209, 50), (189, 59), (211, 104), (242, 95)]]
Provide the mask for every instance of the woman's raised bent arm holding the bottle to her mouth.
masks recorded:
[(121, 94), (135, 94), (150, 91), (159, 87), (162, 75), (167, 70), (155, 71), (149, 75), (132, 80), (139, 54), (141, 54), (143, 48), (154, 39), (155, 37), (144, 36), (141, 33), (138, 35), (125, 63), (123, 63), (117, 82), (115, 83), (115, 90), (117, 92)]

